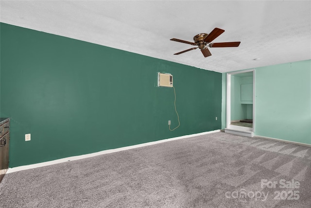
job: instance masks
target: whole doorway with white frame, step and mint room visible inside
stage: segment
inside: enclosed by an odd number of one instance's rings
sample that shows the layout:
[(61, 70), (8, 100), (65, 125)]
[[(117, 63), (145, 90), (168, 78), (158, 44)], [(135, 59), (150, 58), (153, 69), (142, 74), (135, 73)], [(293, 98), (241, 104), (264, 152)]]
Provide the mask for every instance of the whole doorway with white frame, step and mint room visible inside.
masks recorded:
[(254, 69), (227, 73), (225, 132), (253, 137), (255, 129), (254, 85)]

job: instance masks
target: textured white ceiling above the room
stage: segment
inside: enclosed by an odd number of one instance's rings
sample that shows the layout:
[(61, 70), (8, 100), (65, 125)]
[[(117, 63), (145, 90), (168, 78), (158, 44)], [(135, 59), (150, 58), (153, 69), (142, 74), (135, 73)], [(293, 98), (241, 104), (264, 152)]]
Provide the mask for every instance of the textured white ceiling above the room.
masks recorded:
[[(0, 21), (216, 72), (311, 59), (311, 1), (0, 1)], [(171, 41), (215, 27), (212, 56)], [(258, 58), (259, 60), (253, 60)]]

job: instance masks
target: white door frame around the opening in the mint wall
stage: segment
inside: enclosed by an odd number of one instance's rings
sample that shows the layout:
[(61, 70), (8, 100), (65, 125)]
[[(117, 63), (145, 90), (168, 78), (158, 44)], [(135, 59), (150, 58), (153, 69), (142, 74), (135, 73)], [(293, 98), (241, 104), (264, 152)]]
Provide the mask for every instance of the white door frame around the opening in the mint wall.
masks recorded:
[[(231, 75), (253, 72), (253, 128), (231, 125)], [(227, 73), (227, 89), (226, 89), (226, 128), (231, 130), (241, 130), (255, 132), (255, 69), (249, 69), (238, 72)]]

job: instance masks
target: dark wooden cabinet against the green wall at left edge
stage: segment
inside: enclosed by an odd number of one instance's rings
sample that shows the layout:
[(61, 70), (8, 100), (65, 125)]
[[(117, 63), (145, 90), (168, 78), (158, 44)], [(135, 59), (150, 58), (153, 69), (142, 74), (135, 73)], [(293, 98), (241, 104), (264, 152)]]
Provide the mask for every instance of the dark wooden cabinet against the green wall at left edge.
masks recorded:
[(0, 118), (0, 182), (9, 168), (10, 119)]

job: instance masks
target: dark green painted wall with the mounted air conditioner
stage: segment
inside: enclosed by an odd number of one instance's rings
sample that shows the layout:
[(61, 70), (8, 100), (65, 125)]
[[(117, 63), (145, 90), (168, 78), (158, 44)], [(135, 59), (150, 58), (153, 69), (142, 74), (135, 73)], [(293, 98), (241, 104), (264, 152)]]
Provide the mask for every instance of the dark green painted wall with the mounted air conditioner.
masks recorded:
[(221, 128), (221, 73), (4, 23), (0, 44), (10, 167)]

